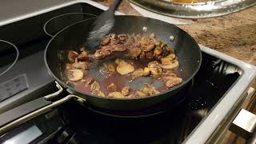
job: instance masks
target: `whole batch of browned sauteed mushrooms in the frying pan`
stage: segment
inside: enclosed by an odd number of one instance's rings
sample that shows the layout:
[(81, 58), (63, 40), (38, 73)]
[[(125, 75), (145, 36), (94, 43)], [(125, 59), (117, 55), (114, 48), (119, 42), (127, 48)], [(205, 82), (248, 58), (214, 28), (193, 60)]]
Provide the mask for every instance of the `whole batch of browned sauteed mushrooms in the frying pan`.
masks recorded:
[[(106, 86), (104, 79), (96, 81), (90, 75), (90, 66), (94, 59), (104, 61), (110, 54), (125, 54), (126, 59), (117, 58), (114, 62), (104, 62), (99, 68), (103, 78), (120, 78)], [(117, 54), (118, 55), (118, 54)], [(69, 51), (66, 63), (66, 76), (69, 82), (80, 82), (82, 86), (89, 86), (90, 94), (110, 98), (140, 98), (160, 93), (177, 86), (182, 82), (175, 68), (179, 66), (178, 58), (174, 50), (167, 46), (153, 34), (109, 34), (102, 39), (102, 45), (94, 54), (89, 54), (85, 47), (79, 52)], [(111, 58), (110, 58), (111, 59)], [(111, 60), (110, 60), (111, 61)], [(94, 66), (94, 65), (92, 65)], [(118, 73), (118, 74), (117, 74)], [(156, 90), (150, 84), (145, 84), (140, 90), (132, 90), (124, 81), (135, 81), (139, 77), (151, 77), (166, 83), (164, 87)], [(105, 82), (105, 83), (104, 83)], [(118, 91), (118, 88), (122, 88)], [(113, 90), (109, 94), (104, 94)], [(107, 95), (107, 96), (106, 96)]]

